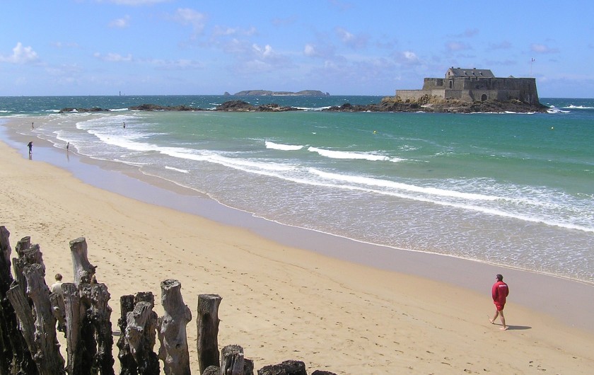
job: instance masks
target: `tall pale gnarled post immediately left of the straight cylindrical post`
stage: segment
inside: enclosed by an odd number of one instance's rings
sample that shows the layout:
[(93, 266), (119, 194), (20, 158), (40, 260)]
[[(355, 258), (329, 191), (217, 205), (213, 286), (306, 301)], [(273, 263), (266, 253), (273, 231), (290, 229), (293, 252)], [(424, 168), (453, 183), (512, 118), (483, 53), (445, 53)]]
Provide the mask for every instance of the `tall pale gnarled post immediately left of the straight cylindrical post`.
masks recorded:
[(192, 320), (192, 312), (184, 304), (181, 289), (182, 284), (177, 280), (161, 282), (161, 304), (165, 312), (158, 318), (159, 358), (166, 375), (191, 374), (186, 325)]

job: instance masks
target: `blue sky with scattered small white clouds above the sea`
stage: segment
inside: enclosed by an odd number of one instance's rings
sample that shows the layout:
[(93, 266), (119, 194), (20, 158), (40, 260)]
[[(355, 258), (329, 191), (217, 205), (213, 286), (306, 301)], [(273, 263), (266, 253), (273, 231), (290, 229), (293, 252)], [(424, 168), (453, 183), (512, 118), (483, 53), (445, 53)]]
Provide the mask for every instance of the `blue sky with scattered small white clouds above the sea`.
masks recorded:
[(594, 98), (593, 19), (590, 0), (5, 0), (0, 96), (388, 96), (464, 67)]

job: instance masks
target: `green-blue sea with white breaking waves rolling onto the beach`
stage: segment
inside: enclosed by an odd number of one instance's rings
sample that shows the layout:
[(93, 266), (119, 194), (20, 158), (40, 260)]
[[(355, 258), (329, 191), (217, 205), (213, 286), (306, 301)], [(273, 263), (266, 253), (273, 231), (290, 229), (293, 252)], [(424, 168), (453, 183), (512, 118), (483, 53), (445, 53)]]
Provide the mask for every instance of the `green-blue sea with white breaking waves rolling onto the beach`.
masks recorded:
[[(212, 110), (228, 100), (300, 110)], [(380, 100), (3, 97), (0, 126), (35, 117), (29, 136), (269, 221), (594, 284), (594, 99), (541, 98), (547, 113), (322, 111)], [(143, 103), (207, 110), (129, 110)], [(59, 113), (93, 107), (107, 111)]]

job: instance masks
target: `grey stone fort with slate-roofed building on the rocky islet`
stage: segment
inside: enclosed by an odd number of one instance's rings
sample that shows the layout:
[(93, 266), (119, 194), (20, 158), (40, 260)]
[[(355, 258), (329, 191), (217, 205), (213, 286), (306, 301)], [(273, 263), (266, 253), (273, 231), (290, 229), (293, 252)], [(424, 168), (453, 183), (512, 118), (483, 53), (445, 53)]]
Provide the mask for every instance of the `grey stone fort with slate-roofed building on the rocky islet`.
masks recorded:
[(451, 67), (445, 78), (426, 78), (421, 90), (397, 90), (396, 96), (405, 103), (423, 100), (458, 99), (465, 102), (520, 100), (538, 105), (536, 79), (496, 77), (490, 69)]

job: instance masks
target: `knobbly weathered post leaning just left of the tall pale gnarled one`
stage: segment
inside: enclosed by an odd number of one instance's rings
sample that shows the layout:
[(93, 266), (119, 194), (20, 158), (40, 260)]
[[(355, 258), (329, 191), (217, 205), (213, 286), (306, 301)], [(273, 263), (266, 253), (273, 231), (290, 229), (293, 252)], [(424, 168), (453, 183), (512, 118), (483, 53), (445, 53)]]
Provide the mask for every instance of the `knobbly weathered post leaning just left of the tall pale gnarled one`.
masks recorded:
[(141, 301), (128, 313), (126, 340), (136, 361), (139, 374), (158, 375), (159, 361), (153, 352), (155, 346), (157, 314), (153, 304)]

